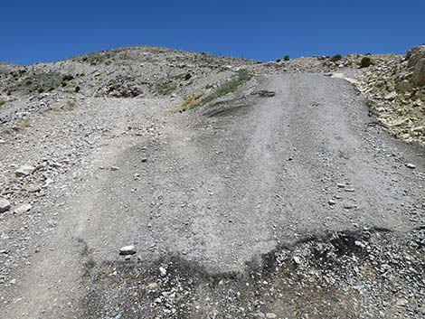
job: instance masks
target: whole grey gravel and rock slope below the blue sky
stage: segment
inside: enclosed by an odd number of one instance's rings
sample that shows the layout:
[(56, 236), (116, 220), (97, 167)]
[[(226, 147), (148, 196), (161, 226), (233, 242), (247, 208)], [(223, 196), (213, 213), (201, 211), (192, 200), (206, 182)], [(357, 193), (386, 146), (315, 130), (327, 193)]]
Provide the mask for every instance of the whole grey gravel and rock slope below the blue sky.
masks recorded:
[(423, 318), (421, 50), (1, 63), (2, 316)]

